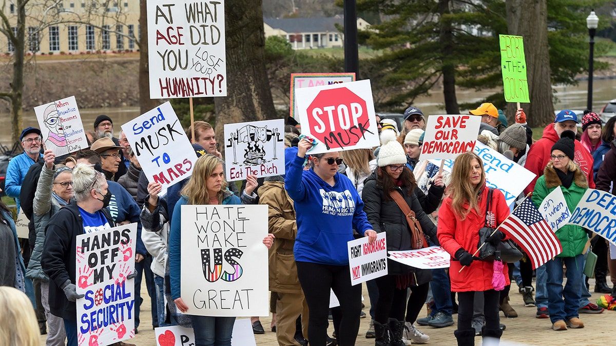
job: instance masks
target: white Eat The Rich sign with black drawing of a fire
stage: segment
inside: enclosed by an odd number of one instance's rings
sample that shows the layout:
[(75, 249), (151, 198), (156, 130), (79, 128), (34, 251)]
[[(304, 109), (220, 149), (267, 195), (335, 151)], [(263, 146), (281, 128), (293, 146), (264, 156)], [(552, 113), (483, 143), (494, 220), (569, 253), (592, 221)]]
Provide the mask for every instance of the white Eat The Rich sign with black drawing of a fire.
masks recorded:
[(225, 124), (227, 181), (285, 174), (283, 119)]

